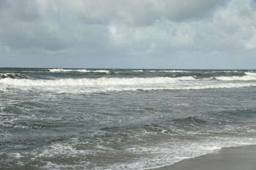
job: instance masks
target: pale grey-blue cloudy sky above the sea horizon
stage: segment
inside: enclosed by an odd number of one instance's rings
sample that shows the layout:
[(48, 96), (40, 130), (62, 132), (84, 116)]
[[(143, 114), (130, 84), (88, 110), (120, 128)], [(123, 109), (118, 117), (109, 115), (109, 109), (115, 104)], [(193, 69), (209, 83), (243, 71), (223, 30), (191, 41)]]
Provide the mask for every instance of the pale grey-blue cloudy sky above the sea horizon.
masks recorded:
[(0, 67), (256, 69), (256, 1), (0, 0)]

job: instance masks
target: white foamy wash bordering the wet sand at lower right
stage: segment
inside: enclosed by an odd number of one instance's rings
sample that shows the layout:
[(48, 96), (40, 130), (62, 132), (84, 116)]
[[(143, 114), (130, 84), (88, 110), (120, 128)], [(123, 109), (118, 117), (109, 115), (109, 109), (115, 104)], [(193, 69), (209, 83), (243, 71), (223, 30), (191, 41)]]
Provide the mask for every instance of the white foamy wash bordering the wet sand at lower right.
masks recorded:
[[(188, 158), (195, 158), (205, 154), (210, 154), (223, 147), (242, 146), (245, 144), (255, 144), (255, 141), (251, 138), (219, 138), (200, 142), (179, 141), (179, 145), (175, 142), (163, 143), (158, 144), (158, 146), (147, 148), (133, 146), (133, 148), (130, 150), (128, 148), (126, 151), (135, 152), (136, 154), (146, 154), (148, 157), (143, 160), (137, 160), (133, 163), (115, 163), (110, 165), (108, 169), (152, 169), (163, 167)], [(158, 153), (158, 155), (153, 156), (151, 153)]]

